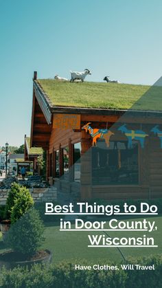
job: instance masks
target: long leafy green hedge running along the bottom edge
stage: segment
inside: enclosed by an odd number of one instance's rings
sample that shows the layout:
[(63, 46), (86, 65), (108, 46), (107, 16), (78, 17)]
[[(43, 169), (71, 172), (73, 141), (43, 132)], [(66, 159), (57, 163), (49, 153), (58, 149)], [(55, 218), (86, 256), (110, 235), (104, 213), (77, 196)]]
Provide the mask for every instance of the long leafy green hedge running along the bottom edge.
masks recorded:
[[(77, 261), (76, 263), (79, 263)], [(103, 261), (97, 262), (103, 265)], [(154, 264), (154, 270), (75, 270), (74, 264), (60, 263), (50, 265), (33, 265), (30, 269), (19, 267), (13, 270), (1, 270), (0, 285), (3, 288), (161, 288), (162, 257), (150, 256), (148, 258), (131, 258), (128, 264), (141, 264), (149, 266)], [(91, 265), (92, 263), (80, 263)], [(117, 263), (106, 263), (117, 265)], [(118, 267), (120, 264), (119, 263)]]

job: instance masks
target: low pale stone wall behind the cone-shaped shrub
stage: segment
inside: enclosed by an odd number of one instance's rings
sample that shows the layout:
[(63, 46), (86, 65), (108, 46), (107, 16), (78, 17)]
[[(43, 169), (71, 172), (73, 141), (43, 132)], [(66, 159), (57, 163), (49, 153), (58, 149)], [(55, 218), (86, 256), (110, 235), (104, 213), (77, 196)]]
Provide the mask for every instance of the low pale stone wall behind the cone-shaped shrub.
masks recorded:
[[(0, 189), (0, 205), (5, 205), (10, 189)], [(31, 188), (30, 193), (35, 202), (57, 201), (57, 188)]]

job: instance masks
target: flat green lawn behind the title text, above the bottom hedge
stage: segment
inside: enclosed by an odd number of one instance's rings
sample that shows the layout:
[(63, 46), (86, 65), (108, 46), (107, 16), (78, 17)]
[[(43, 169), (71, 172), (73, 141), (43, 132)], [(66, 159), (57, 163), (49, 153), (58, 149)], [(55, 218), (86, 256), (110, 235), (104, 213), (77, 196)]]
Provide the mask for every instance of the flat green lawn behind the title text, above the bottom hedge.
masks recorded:
[[(130, 219), (132, 220), (132, 219)], [(134, 219), (135, 220), (135, 219)], [(138, 221), (142, 220), (138, 218)], [(127, 219), (128, 221), (128, 219)], [(156, 232), (108, 232), (111, 237), (128, 237), (129, 236), (142, 236), (143, 234), (149, 237), (154, 237), (154, 244), (159, 247), (149, 248), (127, 248), (122, 247), (122, 253), (125, 258), (129, 256), (150, 256), (150, 254), (159, 254), (162, 252), (162, 229), (161, 221), (162, 217), (149, 217), (149, 221), (156, 221), (158, 230)], [(73, 227), (74, 228), (74, 225)], [(60, 261), (79, 261), (82, 260), (90, 261), (94, 263), (97, 260), (106, 261), (121, 261), (122, 256), (119, 254), (117, 248), (90, 248), (88, 234), (104, 234), (103, 232), (60, 232), (60, 223), (53, 225), (48, 223), (45, 228), (45, 244), (43, 247), (51, 250), (53, 254), (53, 262), (57, 263)], [(1, 243), (1, 242), (0, 242)], [(3, 252), (3, 245), (0, 245), (0, 252)]]

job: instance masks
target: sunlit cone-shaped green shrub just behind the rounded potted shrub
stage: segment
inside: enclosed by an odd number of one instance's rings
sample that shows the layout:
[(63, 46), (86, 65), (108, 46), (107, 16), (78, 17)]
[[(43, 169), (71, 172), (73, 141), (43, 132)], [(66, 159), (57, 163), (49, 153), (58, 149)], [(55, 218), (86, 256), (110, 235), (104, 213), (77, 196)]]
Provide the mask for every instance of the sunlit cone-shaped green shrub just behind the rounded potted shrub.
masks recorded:
[(34, 200), (30, 195), (30, 191), (22, 186), (19, 191), (19, 198), (14, 200), (14, 206), (10, 214), (11, 223), (16, 222), (32, 206), (34, 206)]

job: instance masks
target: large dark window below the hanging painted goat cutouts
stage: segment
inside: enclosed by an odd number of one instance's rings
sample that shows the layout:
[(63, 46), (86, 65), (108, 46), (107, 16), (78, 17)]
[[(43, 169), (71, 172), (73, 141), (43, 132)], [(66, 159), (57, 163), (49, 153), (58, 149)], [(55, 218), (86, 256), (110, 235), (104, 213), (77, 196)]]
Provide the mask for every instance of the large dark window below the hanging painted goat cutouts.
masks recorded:
[(110, 142), (109, 148), (92, 148), (93, 185), (138, 184), (138, 143)]

